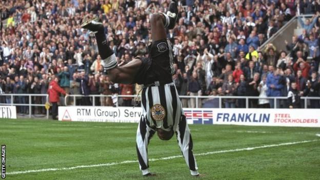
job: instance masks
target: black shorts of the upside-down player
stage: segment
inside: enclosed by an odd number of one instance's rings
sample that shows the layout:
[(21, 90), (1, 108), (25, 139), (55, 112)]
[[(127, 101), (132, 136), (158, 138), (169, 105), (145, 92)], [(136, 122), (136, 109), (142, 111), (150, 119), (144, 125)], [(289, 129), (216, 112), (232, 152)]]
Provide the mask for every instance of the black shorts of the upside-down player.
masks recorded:
[(135, 76), (134, 83), (150, 85), (154, 82), (168, 84), (172, 82), (173, 54), (170, 42), (162, 39), (148, 47), (149, 57), (139, 57), (142, 65)]

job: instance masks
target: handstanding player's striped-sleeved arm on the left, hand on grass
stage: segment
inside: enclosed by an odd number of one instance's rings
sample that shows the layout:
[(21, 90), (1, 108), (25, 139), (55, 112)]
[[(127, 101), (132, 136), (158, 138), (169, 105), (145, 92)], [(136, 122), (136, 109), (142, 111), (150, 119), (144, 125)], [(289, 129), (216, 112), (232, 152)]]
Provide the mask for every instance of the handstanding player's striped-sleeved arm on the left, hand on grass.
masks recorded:
[(141, 116), (137, 134), (136, 134), (136, 151), (140, 170), (143, 175), (150, 175), (148, 162), (148, 144), (155, 133), (155, 130), (147, 125), (145, 116)]

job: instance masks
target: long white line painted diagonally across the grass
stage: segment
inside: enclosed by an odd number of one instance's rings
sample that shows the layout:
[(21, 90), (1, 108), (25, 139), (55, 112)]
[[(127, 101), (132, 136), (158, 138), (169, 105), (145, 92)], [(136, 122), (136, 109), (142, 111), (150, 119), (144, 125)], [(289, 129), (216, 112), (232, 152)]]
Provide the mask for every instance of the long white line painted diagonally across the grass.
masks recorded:
[[(295, 144), (302, 144), (302, 143), (310, 143), (310, 142), (315, 142), (315, 141), (319, 141), (319, 140), (320, 139), (314, 139), (314, 140), (299, 141), (299, 142), (289, 142), (289, 143), (281, 143), (281, 144), (273, 144), (273, 145), (256, 146), (256, 147), (249, 147), (249, 148), (242, 148), (242, 149), (211, 151), (211, 152), (198, 153), (198, 154), (194, 154), (194, 155), (201, 156), (201, 155), (218, 154), (218, 153), (226, 153), (226, 152), (251, 151), (254, 149), (261, 149), (261, 148), (270, 148), (270, 147), (277, 147), (277, 146), (287, 146), (287, 145), (295, 145)], [(175, 156), (168, 156), (168, 157), (161, 157), (161, 158), (152, 158), (152, 159), (149, 159), (149, 161), (168, 160), (168, 159), (173, 159), (173, 158), (178, 158), (178, 157), (183, 157), (183, 156), (182, 155), (175, 155)], [(74, 167), (69, 167), (69, 168), (48, 168), (48, 169), (37, 169), (37, 170), (28, 170), (28, 171), (13, 171), (13, 172), (7, 172), (6, 174), (26, 174), (26, 173), (32, 173), (32, 172), (72, 170), (72, 169), (79, 169), (79, 168), (114, 166), (114, 165), (119, 165), (119, 164), (129, 164), (129, 163), (137, 163), (137, 162), (138, 161), (123, 161), (123, 162), (114, 162), (114, 163), (106, 163), (106, 164), (74, 166)]]

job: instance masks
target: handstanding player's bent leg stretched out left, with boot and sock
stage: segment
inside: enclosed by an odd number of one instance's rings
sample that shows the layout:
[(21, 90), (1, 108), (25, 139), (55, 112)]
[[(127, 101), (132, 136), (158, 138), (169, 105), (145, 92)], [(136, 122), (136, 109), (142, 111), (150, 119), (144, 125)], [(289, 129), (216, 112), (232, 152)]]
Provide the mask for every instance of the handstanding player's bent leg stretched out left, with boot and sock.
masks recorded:
[(116, 56), (108, 45), (103, 24), (97, 18), (84, 19), (82, 28), (89, 29), (95, 33), (99, 55), (103, 59), (105, 69), (108, 70), (110, 80), (113, 83), (131, 84), (142, 64), (141, 60), (134, 59), (128, 64), (118, 67)]

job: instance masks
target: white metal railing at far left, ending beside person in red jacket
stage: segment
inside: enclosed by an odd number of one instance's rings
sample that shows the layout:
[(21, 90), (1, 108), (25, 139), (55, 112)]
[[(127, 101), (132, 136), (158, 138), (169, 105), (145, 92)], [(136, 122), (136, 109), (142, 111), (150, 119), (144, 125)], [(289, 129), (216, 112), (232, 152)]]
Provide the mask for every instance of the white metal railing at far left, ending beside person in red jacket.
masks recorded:
[[(32, 114), (32, 107), (45, 107), (45, 103), (44, 104), (32, 104), (32, 97), (45, 97), (46, 98), (46, 102), (48, 102), (48, 94), (0, 94), (0, 97), (4, 98), (4, 101), (6, 101), (6, 98), (10, 98), (10, 103), (0, 103), (1, 105), (4, 106), (19, 106), (19, 107), (23, 107), (23, 106), (28, 106), (29, 107), (29, 117), (31, 118), (31, 114)], [(19, 104), (19, 103), (15, 103), (15, 100), (18, 100), (18, 98), (26, 98), (25, 102), (26, 104)], [(27, 101), (28, 98), (28, 101)], [(28, 102), (28, 103), (27, 103)], [(47, 119), (49, 118), (49, 110), (46, 109), (46, 116)], [(18, 112), (17, 112), (18, 113)]]

